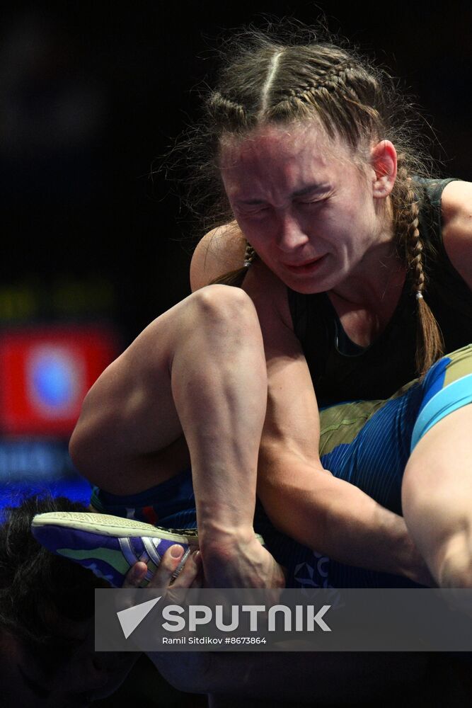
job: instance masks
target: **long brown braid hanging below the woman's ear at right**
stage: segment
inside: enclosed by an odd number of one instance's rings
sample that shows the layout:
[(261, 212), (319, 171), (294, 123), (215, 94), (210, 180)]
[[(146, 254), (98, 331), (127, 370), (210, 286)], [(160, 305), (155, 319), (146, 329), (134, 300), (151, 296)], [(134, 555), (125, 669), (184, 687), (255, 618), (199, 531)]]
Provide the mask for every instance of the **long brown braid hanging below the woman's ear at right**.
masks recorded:
[(408, 177), (405, 167), (398, 170), (398, 181), (403, 185), (405, 194), (403, 210), (397, 217), (397, 233), (400, 243), (403, 241), (406, 262), (413, 275), (413, 290), (418, 307), (415, 364), (418, 374), (424, 376), (444, 353), (444, 341), (439, 325), (424, 297), (426, 275), (418, 219), (420, 207), (413, 181)]

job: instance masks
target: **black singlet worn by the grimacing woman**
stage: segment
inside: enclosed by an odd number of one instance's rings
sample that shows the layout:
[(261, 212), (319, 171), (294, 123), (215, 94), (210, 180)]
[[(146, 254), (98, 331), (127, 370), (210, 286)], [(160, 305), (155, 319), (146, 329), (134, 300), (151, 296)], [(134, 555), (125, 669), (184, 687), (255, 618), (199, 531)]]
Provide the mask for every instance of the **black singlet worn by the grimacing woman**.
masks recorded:
[[(442, 331), (446, 353), (472, 341), (472, 291), (442, 243), (441, 195), (451, 181), (415, 183), (420, 193), (425, 299)], [(347, 336), (326, 292), (303, 295), (288, 288), (288, 297), (319, 406), (386, 399), (415, 378), (417, 308), (410, 275), (391, 320), (367, 348)]]

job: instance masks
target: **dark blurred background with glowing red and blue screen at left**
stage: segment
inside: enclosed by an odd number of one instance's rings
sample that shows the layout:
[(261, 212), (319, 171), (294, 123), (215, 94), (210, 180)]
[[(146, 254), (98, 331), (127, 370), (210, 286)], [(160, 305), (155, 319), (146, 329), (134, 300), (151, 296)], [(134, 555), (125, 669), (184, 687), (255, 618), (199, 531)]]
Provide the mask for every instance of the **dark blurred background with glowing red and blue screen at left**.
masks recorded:
[[(2, 4), (0, 506), (45, 487), (86, 501), (88, 485), (67, 457), (81, 398), (110, 358), (189, 292), (191, 227), (175, 185), (155, 170), (197, 115), (195, 87), (214, 71), (214, 38), (263, 23), (262, 13), (306, 23), (326, 13), (331, 31), (418, 96), (444, 175), (469, 179), (472, 4), (435, 7)], [(154, 670), (139, 666), (107, 705), (129, 704), (137, 685), (149, 705), (204, 704), (165, 683), (158, 690)]]

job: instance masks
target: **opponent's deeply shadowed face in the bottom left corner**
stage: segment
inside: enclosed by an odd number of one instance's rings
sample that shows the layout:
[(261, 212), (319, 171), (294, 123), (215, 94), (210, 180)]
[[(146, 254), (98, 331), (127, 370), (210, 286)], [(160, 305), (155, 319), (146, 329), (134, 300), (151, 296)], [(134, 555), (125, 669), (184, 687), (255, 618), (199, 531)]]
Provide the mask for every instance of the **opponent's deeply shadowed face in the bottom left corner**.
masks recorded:
[(137, 655), (93, 650), (92, 627), (70, 622), (64, 639), (71, 649), (33, 650), (23, 639), (0, 634), (3, 708), (82, 708), (113, 693)]

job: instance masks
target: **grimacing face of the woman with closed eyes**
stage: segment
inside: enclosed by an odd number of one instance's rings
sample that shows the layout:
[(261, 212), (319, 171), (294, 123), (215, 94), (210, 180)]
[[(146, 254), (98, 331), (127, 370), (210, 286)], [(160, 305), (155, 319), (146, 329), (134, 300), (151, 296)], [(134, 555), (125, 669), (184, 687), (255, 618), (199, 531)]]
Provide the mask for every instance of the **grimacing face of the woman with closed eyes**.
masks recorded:
[(322, 292), (365, 276), (373, 251), (392, 241), (369, 157), (362, 162), (313, 122), (223, 139), (221, 176), (236, 221), (293, 290)]

